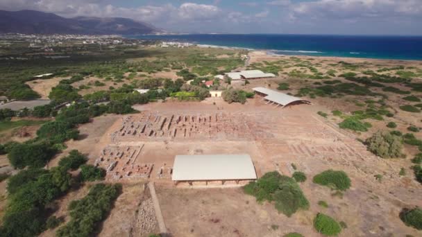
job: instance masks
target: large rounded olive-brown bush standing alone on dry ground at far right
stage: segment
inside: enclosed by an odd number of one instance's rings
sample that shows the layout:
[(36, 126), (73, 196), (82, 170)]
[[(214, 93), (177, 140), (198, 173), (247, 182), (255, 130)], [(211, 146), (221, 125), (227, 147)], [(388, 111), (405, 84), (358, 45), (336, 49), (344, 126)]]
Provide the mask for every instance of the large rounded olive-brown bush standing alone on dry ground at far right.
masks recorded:
[(375, 132), (365, 141), (366, 147), (373, 154), (382, 158), (398, 158), (402, 156), (403, 144), (400, 137), (389, 132)]

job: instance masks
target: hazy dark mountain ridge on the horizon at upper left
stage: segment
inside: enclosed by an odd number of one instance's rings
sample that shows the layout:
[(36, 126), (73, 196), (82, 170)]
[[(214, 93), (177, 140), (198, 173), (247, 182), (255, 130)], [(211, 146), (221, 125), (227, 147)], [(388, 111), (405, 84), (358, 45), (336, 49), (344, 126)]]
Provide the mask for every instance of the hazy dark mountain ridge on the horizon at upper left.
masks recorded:
[(126, 18), (65, 18), (35, 10), (0, 10), (0, 33), (137, 35), (159, 31), (149, 24)]

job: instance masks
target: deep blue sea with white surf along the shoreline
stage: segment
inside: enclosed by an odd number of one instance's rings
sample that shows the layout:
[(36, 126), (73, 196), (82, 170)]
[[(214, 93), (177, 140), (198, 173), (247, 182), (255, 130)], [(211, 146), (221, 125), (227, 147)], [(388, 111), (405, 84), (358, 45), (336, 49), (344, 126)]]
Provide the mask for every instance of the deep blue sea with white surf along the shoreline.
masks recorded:
[(422, 60), (422, 36), (201, 34), (126, 35), (125, 37), (265, 50), (278, 55)]

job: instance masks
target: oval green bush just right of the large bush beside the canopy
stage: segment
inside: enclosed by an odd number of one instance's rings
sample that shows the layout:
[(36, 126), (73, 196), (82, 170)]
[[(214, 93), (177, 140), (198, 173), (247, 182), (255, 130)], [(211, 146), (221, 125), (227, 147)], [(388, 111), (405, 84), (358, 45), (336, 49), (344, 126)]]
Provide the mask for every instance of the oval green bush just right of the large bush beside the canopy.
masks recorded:
[(344, 171), (337, 170), (326, 170), (315, 175), (313, 182), (323, 186), (330, 186), (330, 188), (337, 189), (339, 191), (346, 191), (351, 187), (351, 179), (347, 176)]

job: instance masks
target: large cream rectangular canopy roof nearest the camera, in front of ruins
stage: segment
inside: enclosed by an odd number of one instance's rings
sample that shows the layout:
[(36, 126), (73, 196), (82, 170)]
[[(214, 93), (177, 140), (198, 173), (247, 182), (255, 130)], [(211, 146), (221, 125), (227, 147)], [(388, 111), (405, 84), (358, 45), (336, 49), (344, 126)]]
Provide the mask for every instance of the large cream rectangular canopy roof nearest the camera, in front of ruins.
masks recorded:
[(176, 155), (173, 181), (256, 179), (249, 155)]

